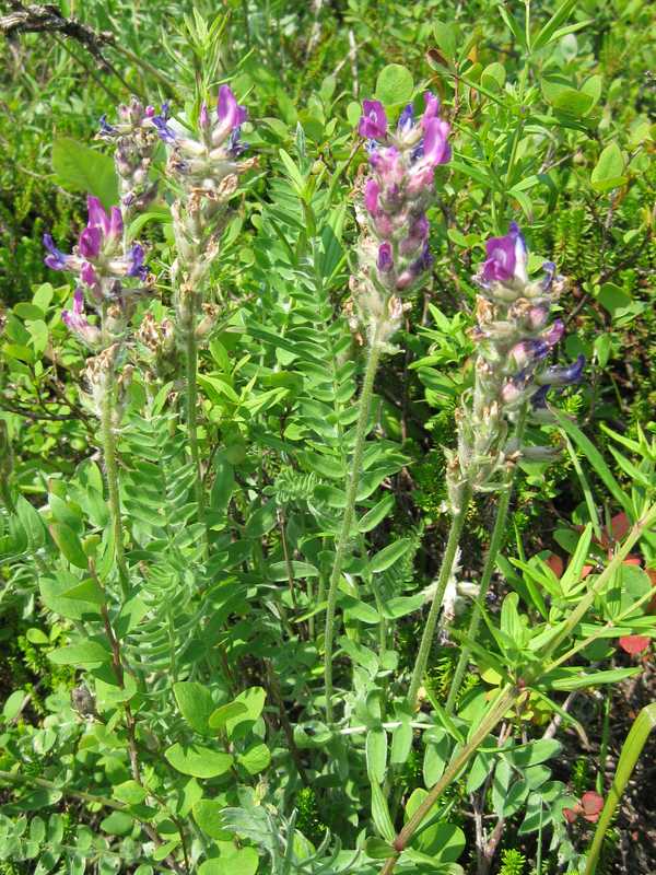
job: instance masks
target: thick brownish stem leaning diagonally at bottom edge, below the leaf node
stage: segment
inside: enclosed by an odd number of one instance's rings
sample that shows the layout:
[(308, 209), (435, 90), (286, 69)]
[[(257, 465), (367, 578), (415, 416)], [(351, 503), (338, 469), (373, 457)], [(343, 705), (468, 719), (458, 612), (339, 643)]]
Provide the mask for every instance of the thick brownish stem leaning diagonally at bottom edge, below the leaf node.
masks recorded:
[[(423, 819), (429, 814), (433, 805), (435, 805), (440, 796), (449, 786), (449, 784), (452, 784), (458, 778), (462, 767), (468, 763), (470, 758), (476, 754), (488, 735), (490, 735), (497, 723), (500, 723), (506, 715), (517, 695), (517, 688), (511, 686), (504, 687), (504, 689), (500, 692), (488, 714), (479, 723), (476, 732), (470, 736), (467, 744), (461, 747), (458, 754), (452, 759), (440, 781), (437, 781), (437, 783), (430, 790), (412, 817), (408, 820), (406, 826), (391, 842), (398, 855), (400, 855), (408, 847), (412, 837), (421, 826)], [(380, 870), (380, 875), (389, 875), (391, 872), (394, 872), (398, 859), (398, 856), (390, 858)]]

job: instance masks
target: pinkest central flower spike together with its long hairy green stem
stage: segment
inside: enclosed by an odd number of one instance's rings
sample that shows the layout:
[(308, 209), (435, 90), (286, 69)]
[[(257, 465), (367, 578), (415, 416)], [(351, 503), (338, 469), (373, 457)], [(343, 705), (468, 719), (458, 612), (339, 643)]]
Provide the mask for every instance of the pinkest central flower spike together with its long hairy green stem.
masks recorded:
[(349, 541), (364, 453), (374, 380), (380, 355), (400, 326), (403, 295), (417, 287), (432, 264), (425, 210), (434, 197), (435, 167), (450, 156), (449, 125), (440, 118), (440, 103), (430, 93), (415, 120), (408, 105), (396, 131), (388, 130), (379, 101), (364, 101), (358, 126), (367, 139), (371, 176), (358, 209), (361, 234), (358, 273), (351, 280), (354, 307), (366, 337), (366, 368), (359, 401), (345, 508), (328, 586), (325, 629), (326, 716), (332, 722), (332, 640), (337, 588)]

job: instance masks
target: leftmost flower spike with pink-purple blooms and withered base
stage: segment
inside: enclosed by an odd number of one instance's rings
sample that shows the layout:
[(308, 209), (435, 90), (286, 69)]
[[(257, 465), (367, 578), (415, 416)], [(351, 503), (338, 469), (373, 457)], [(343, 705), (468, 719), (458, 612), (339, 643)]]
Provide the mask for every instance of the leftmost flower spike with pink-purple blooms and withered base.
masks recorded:
[[(75, 275), (80, 284), (73, 295), (73, 308), (65, 310), (62, 319), (84, 343), (95, 348), (106, 346), (125, 330), (129, 299), (143, 290), (140, 283), (147, 280), (148, 268), (143, 262), (143, 247), (139, 243), (125, 244), (120, 209), (112, 207), (107, 212), (98, 198), (91, 195), (86, 202), (89, 220), (73, 252), (62, 253), (55, 246), (50, 234), (44, 234), (44, 246), (48, 250), (44, 260), (52, 270)], [(86, 318), (85, 291), (94, 306), (109, 314), (110, 318), (104, 325), (105, 338)]]

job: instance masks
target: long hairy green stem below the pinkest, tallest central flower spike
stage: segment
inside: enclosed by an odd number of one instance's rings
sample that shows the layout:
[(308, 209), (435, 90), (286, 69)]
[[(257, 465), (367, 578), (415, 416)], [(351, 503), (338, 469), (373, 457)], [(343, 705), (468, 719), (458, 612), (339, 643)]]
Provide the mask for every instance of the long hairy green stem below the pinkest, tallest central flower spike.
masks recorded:
[(326, 720), (332, 723), (332, 639), (335, 635), (335, 609), (337, 606), (337, 591), (342, 565), (347, 556), (347, 547), (351, 538), (351, 524), (355, 512), (355, 499), (362, 472), (362, 457), (364, 454), (364, 443), (366, 438), (370, 410), (372, 407), (372, 396), (374, 392), (374, 378), (380, 360), (380, 345), (378, 342), (378, 325), (375, 326), (372, 340), (368, 347), (366, 369), (360, 393), (360, 412), (358, 424), (355, 425), (355, 444), (353, 446), (353, 457), (351, 459), (351, 472), (347, 481), (347, 503), (342, 516), (341, 529), (335, 551), (335, 564), (328, 583), (328, 604), (326, 606), (326, 632), (324, 638), (325, 663), (324, 678), (326, 686)]

